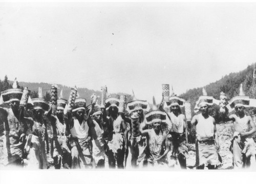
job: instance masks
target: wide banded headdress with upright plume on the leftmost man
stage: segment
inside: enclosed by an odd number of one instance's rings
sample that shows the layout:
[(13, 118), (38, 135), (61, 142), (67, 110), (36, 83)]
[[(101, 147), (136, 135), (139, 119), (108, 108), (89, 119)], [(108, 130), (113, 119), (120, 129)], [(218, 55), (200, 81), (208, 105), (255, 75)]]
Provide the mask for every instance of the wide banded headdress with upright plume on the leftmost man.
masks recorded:
[(12, 101), (20, 101), (23, 94), (23, 89), (17, 88), (17, 80), (15, 78), (11, 89), (6, 89), (1, 91), (1, 102), (0, 103), (9, 103)]

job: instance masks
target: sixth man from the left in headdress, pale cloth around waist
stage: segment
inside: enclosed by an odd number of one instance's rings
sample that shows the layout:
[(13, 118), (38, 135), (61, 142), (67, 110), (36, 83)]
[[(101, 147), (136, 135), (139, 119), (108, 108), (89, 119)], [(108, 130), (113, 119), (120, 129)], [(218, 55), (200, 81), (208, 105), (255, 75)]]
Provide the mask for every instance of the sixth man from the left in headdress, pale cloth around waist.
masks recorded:
[(106, 99), (106, 110), (109, 112), (109, 124), (111, 132), (108, 143), (109, 167), (123, 169), (124, 153), (127, 149), (126, 144), (126, 123), (122, 119), (121, 112), (118, 114), (119, 99)]

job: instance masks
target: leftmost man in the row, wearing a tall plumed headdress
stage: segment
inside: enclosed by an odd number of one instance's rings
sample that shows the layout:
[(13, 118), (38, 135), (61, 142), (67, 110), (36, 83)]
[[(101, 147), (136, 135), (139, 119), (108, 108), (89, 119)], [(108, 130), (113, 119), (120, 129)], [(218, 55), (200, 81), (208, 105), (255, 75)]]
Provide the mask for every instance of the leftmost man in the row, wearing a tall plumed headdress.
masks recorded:
[(1, 91), (0, 100), (3, 106), (8, 103), (10, 104), (10, 108), (0, 107), (0, 117), (4, 122), (4, 165), (22, 166), (28, 125), (26, 121), (22, 120), (24, 109), (19, 108), (23, 90), (17, 88), (16, 79), (12, 87), (11, 89)]

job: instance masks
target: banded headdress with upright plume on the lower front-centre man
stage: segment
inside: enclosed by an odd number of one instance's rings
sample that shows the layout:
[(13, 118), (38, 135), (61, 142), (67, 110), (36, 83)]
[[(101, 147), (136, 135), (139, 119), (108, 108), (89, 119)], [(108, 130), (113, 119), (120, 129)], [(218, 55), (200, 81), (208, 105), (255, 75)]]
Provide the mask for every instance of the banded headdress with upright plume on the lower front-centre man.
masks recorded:
[(145, 114), (146, 124), (152, 124), (156, 122), (165, 123), (166, 113), (159, 110), (156, 106), (155, 97), (153, 97), (153, 108), (152, 111)]

